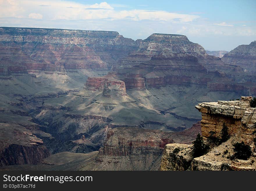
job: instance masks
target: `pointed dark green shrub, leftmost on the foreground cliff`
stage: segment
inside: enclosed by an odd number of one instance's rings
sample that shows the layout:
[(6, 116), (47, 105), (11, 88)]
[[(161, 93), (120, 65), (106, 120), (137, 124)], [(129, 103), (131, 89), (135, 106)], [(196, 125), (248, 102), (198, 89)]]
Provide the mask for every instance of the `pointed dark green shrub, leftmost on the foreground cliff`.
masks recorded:
[(198, 133), (196, 140), (193, 141), (193, 158), (202, 156), (207, 153), (209, 146), (203, 141), (203, 137)]

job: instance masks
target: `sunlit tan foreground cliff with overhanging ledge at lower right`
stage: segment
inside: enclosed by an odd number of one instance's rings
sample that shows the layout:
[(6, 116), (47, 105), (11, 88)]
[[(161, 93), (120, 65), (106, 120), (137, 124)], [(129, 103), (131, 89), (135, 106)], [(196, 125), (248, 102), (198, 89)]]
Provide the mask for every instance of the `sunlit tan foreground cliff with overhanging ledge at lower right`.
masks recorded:
[[(161, 160), (161, 170), (255, 170), (256, 109), (250, 108), (252, 97), (239, 101), (199, 103), (195, 106), (202, 113), (201, 128), (205, 140), (213, 131), (220, 137), (223, 124), (228, 127), (229, 140), (212, 147), (207, 154), (193, 158), (191, 144), (167, 144)], [(234, 144), (250, 145), (252, 156), (248, 160), (232, 159)], [(176, 150), (175, 150), (176, 149)]]

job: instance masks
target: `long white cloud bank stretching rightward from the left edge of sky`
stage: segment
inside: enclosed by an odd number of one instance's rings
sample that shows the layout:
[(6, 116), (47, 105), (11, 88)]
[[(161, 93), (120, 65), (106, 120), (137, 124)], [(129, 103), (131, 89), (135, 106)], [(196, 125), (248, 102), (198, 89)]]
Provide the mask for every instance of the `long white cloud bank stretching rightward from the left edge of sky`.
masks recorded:
[[(1, 2), (1, 0), (0, 0)], [(2, 11), (5, 10), (5, 11)], [(13, 11), (14, 10), (14, 11)], [(33, 12), (32, 12), (33, 11)], [(198, 15), (170, 13), (155, 10), (115, 10), (107, 2), (85, 5), (71, 1), (8, 0), (0, 6), (0, 17), (24, 17), (48, 20), (110, 19), (110, 20), (162, 20), (191, 22)]]

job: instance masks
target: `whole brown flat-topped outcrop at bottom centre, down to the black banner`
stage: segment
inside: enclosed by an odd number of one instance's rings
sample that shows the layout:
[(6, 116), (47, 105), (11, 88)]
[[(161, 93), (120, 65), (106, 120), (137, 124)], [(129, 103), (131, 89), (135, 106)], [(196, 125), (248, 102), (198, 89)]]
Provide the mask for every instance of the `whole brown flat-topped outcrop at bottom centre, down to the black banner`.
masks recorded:
[(97, 169), (157, 170), (170, 133), (135, 127), (118, 127), (107, 132), (96, 157)]

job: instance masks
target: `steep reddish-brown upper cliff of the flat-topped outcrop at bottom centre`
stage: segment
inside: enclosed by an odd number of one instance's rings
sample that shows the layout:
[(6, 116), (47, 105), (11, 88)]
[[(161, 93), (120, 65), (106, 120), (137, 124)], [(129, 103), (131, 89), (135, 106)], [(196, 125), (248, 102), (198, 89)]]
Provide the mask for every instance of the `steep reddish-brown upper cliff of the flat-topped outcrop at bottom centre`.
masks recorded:
[(140, 155), (141, 152), (146, 152), (147, 149), (154, 147), (163, 149), (170, 142), (173, 142), (173, 140), (161, 131), (126, 127), (122, 129), (114, 128), (107, 132), (104, 147), (100, 149), (99, 155)]

